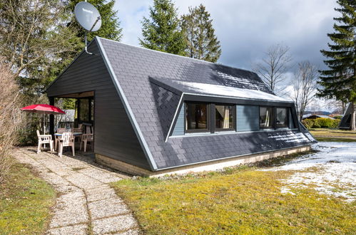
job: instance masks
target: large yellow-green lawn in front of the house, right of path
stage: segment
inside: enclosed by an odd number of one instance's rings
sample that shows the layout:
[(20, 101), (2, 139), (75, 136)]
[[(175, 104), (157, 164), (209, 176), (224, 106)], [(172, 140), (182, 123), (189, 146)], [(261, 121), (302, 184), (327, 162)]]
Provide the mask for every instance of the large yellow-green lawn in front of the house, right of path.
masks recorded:
[[(280, 188), (291, 171), (230, 168), (168, 179), (123, 179), (112, 186), (146, 234), (352, 234), (355, 203), (314, 189)], [(177, 179), (174, 179), (177, 178)]]

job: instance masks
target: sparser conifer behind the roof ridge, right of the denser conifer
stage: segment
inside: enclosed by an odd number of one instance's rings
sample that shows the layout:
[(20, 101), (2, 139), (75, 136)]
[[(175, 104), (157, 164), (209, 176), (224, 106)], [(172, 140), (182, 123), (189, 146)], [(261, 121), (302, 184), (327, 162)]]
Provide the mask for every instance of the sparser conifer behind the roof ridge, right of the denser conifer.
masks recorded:
[(189, 7), (189, 14), (182, 16), (182, 30), (187, 44), (186, 52), (191, 58), (216, 62), (221, 55), (220, 41), (215, 36), (210, 14), (200, 4)]

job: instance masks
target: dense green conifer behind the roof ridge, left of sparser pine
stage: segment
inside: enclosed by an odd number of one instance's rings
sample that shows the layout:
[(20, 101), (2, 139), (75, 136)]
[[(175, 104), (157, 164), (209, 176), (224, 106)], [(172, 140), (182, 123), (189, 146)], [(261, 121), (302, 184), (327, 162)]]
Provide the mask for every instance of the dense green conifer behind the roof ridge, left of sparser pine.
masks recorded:
[(171, 0), (153, 0), (150, 18), (143, 18), (141, 46), (185, 56), (185, 41), (180, 31), (177, 9)]

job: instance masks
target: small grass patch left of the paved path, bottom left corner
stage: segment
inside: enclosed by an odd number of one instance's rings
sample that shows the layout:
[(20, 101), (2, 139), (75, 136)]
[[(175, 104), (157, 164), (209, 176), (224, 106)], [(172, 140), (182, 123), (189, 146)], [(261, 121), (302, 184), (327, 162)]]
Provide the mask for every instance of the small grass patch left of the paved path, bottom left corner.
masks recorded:
[(24, 164), (0, 185), (0, 234), (44, 234), (56, 192)]

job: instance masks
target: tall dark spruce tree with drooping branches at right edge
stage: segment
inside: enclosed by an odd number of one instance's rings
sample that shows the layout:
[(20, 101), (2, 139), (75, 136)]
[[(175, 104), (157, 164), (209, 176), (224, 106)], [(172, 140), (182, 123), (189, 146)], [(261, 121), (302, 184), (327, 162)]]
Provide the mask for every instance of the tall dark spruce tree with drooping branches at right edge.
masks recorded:
[(350, 128), (356, 130), (356, 1), (338, 0), (337, 4), (340, 8), (335, 11), (341, 16), (334, 18), (335, 32), (327, 34), (332, 41), (327, 45), (330, 51), (321, 51), (329, 68), (320, 71), (318, 95), (352, 103)]

